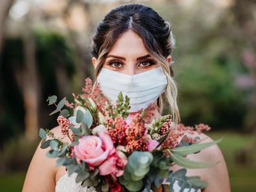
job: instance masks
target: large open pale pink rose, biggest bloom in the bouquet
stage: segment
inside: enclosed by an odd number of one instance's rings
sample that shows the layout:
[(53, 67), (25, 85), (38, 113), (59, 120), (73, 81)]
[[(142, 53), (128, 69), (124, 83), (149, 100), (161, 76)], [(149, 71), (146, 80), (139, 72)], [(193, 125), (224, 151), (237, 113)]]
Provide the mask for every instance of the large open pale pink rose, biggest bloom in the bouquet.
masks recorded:
[(114, 144), (111, 137), (101, 131), (99, 136), (83, 136), (79, 144), (74, 146), (76, 160), (86, 162), (91, 167), (101, 165), (114, 152)]

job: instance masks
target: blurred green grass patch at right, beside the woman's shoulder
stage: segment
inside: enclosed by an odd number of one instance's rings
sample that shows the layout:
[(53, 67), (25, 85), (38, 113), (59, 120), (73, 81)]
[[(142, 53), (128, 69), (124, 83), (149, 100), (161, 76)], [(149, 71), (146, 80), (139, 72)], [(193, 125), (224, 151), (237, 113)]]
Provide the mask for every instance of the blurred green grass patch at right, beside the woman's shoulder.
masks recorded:
[[(255, 192), (256, 138), (254, 138), (251, 134), (240, 134), (234, 132), (209, 132), (208, 135), (211, 136), (213, 140), (217, 140), (224, 136), (223, 140), (218, 145), (228, 166), (231, 191)], [(246, 155), (248, 155), (248, 158), (245, 158)]]

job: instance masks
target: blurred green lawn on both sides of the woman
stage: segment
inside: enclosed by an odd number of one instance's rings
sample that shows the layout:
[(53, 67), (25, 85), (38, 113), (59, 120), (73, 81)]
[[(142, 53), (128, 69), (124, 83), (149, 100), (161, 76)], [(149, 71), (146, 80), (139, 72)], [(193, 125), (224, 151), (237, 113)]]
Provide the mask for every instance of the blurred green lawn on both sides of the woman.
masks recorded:
[[(209, 132), (213, 140), (222, 136), (224, 139), (219, 143), (226, 163), (228, 165), (229, 178), (232, 192), (255, 192), (256, 191), (256, 149), (253, 149), (255, 138), (251, 134), (239, 134), (234, 132)], [(246, 164), (239, 162), (244, 160), (244, 149), (251, 149), (250, 158), (245, 159)], [(254, 153), (253, 153), (254, 150)], [(240, 157), (239, 157), (240, 156)], [(21, 191), (25, 173), (0, 174), (1, 191), (16, 192)]]

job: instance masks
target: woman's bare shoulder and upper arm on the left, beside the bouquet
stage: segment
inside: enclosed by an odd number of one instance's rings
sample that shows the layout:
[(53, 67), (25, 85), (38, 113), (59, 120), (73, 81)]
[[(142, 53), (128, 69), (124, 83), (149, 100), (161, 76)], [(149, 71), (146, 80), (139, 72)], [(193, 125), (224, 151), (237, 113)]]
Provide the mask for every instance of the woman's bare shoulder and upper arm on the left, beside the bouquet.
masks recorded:
[[(51, 129), (56, 137), (61, 137), (61, 127)], [(23, 192), (28, 191), (55, 191), (56, 186), (56, 159), (46, 156), (47, 149), (41, 149), (41, 142), (32, 157), (28, 167)]]

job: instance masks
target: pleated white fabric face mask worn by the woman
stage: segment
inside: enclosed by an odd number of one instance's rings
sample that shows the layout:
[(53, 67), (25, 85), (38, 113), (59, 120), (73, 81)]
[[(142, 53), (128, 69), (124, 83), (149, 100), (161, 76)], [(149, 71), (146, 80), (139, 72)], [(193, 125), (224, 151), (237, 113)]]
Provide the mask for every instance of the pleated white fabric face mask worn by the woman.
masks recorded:
[(120, 91), (130, 98), (129, 112), (147, 108), (165, 91), (167, 78), (162, 67), (135, 75), (102, 68), (97, 78), (100, 89), (114, 105)]

